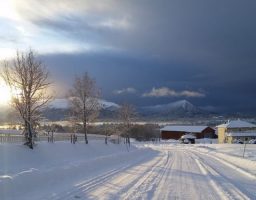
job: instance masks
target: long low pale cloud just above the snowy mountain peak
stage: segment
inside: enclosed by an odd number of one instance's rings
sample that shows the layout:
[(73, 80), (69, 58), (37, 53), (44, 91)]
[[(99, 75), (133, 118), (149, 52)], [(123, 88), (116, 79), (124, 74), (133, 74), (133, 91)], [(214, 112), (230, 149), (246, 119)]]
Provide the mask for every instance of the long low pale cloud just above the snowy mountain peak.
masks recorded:
[(205, 97), (205, 94), (197, 91), (183, 90), (175, 91), (168, 87), (153, 87), (150, 92), (146, 92), (142, 95), (143, 97)]

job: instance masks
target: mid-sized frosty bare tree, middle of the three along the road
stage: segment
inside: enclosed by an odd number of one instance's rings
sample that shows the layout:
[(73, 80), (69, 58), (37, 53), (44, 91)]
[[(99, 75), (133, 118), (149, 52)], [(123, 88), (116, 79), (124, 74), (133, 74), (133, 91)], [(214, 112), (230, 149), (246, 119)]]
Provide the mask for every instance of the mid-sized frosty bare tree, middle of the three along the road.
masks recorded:
[(73, 119), (82, 124), (86, 144), (88, 144), (88, 123), (94, 121), (99, 114), (99, 94), (96, 81), (87, 72), (75, 78), (73, 88), (69, 93), (71, 114)]

